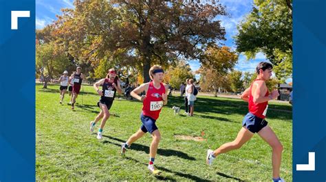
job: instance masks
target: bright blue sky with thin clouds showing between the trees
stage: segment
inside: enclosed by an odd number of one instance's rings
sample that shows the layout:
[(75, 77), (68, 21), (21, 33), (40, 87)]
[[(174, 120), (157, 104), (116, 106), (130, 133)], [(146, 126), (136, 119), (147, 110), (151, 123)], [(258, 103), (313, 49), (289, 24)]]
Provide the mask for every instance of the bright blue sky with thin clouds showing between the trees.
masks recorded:
[[(252, 0), (221, 0), (222, 5), (226, 5), (226, 11), (230, 16), (222, 16), (221, 24), (226, 28), (226, 46), (235, 49), (234, 39), (237, 34), (237, 24), (243, 20), (252, 8)], [(41, 29), (52, 23), (56, 19), (56, 14), (61, 14), (61, 8), (74, 8), (72, 0), (36, 0), (36, 29)], [(239, 55), (239, 60), (235, 66), (236, 70), (253, 72), (257, 64), (265, 60), (263, 53), (258, 53), (254, 60), (246, 60), (245, 55)], [(188, 62), (193, 71), (200, 67), (198, 61)], [(199, 75), (196, 75), (199, 78)]]

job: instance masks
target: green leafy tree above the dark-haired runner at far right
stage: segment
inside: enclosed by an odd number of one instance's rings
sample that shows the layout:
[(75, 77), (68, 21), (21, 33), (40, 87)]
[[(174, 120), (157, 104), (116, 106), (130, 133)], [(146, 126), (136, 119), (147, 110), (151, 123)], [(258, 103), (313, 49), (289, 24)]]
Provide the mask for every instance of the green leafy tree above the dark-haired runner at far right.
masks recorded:
[(238, 25), (237, 51), (248, 60), (263, 52), (281, 81), (292, 77), (292, 0), (254, 0), (252, 11)]

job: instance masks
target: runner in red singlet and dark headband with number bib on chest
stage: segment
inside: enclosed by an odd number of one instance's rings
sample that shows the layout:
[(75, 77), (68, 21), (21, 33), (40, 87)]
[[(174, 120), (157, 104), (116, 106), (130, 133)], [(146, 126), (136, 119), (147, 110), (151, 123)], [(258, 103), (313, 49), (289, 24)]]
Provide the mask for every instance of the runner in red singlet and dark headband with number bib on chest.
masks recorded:
[[(153, 174), (159, 174), (160, 170), (155, 170), (154, 160), (157, 153), (157, 147), (161, 139), (161, 134), (157, 128), (155, 122), (160, 116), (161, 109), (163, 105), (166, 105), (168, 86), (162, 83), (164, 71), (161, 66), (152, 66), (149, 70), (149, 76), (152, 81), (149, 83), (143, 83), (138, 88), (135, 88), (131, 92), (131, 96), (135, 99), (142, 101), (142, 114), (140, 115), (140, 120), (142, 120), (142, 125), (140, 129), (127, 140), (127, 142), (121, 144), (121, 154), (124, 156), (127, 148), (141, 138), (145, 133), (151, 133), (153, 140), (151, 142), (151, 147), (149, 150), (149, 166), (148, 169)], [(138, 94), (145, 91), (146, 95), (139, 96)]]

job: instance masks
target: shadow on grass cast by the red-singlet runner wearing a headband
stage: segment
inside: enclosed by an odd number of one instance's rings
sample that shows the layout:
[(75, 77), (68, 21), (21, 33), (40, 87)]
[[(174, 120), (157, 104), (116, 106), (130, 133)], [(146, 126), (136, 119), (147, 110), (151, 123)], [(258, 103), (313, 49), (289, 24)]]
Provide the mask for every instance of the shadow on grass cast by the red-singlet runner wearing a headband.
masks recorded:
[[(140, 162), (136, 159), (133, 159), (131, 157), (125, 157), (125, 159), (129, 159), (131, 161), (135, 161), (139, 164), (144, 164), (145, 166), (147, 166), (146, 163), (143, 163), (143, 162)], [(170, 173), (173, 173), (179, 177), (184, 177), (186, 179), (190, 179), (190, 180), (193, 180), (193, 181), (208, 181), (207, 179), (202, 179), (200, 177), (197, 177), (193, 174), (186, 174), (186, 173), (183, 173), (183, 172), (177, 172), (177, 171), (173, 171), (173, 170), (169, 170), (168, 168), (164, 168), (164, 167), (161, 167), (161, 166), (156, 166), (155, 167), (158, 169), (158, 170), (162, 170), (162, 171), (165, 171), (165, 172), (170, 172)], [(160, 180), (173, 180), (175, 181), (175, 179), (172, 179), (172, 178), (169, 178), (169, 177), (164, 177), (162, 174), (160, 176), (155, 176), (156, 179), (160, 179)]]

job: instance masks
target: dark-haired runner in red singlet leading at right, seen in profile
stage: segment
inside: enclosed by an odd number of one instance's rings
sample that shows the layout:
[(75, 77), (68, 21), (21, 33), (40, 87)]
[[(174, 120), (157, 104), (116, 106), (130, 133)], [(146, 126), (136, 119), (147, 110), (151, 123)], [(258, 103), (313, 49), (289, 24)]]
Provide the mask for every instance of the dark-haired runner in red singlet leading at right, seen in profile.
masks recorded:
[(206, 163), (208, 165), (211, 165), (215, 157), (221, 153), (227, 153), (228, 151), (240, 148), (252, 138), (254, 133), (258, 133), (272, 147), (272, 180), (284, 181), (280, 177), (283, 146), (265, 120), (268, 101), (276, 99), (279, 96), (277, 90), (273, 90), (271, 93), (268, 92), (265, 83), (272, 76), (272, 68), (272, 64), (268, 62), (260, 62), (258, 64), (256, 68), (257, 79), (241, 95), (241, 99), (248, 102), (249, 109), (248, 114), (243, 118), (242, 128), (234, 141), (219, 146), (215, 151), (207, 151)]

